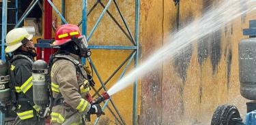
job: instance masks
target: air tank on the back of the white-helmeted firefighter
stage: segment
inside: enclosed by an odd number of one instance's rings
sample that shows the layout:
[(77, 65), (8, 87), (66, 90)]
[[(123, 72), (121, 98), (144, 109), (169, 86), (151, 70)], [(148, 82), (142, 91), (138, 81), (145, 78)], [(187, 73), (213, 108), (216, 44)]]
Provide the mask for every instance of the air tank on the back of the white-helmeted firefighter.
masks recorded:
[(8, 75), (8, 65), (0, 60), (0, 102), (10, 101), (10, 75)]

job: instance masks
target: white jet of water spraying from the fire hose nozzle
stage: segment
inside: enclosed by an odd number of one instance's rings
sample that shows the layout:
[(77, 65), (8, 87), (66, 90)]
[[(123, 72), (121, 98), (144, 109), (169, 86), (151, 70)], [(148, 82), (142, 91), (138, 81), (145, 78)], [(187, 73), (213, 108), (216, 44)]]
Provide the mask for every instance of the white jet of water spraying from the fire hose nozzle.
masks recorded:
[[(242, 5), (248, 5), (245, 10), (238, 8)], [(167, 41), (169, 42), (158, 51), (154, 52), (150, 58), (147, 58), (137, 69), (128, 73), (125, 77), (120, 79), (114, 86), (112, 86), (108, 93), (113, 95), (120, 90), (130, 86), (137, 77), (143, 77), (147, 72), (155, 69), (163, 60), (173, 59), (179, 52), (187, 51), (191, 43), (199, 41), (202, 37), (209, 35), (214, 31), (218, 31), (232, 20), (256, 10), (256, 1), (247, 0), (240, 3), (240, 0), (225, 0), (217, 7), (205, 12), (201, 18), (191, 22), (179, 32), (171, 35)], [(202, 41), (201, 41), (202, 42)]]

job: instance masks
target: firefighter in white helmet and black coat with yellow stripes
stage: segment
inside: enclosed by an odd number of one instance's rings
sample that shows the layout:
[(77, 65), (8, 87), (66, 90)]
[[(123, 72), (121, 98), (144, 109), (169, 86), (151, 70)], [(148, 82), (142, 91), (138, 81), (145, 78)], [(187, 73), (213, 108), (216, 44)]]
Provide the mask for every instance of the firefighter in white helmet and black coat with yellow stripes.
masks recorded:
[(33, 103), (32, 63), (36, 56), (33, 35), (24, 28), (12, 29), (6, 35), (6, 53), (12, 53), (10, 63), (11, 96), (16, 114), (14, 124), (44, 124), (37, 111), (40, 108)]

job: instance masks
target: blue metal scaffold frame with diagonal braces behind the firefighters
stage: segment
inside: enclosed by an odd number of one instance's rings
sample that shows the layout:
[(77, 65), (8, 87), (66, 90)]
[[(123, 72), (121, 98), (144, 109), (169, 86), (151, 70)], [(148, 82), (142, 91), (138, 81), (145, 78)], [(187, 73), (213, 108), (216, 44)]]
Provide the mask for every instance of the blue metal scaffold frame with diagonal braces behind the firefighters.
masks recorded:
[[(16, 0), (18, 1), (18, 0)], [(31, 3), (31, 6), (27, 8), (25, 14), (23, 14), (23, 16), (21, 16), (20, 20), (16, 20), (16, 27), (20, 26), (20, 24), (23, 22), (23, 20), (27, 17), (27, 15), (29, 14), (29, 12), (31, 12), (31, 10), (33, 9), (33, 7), (35, 7), (35, 4), (38, 3), (39, 0), (33, 0)], [(59, 10), (57, 10), (57, 7), (55, 7), (54, 3), (51, 0), (47, 0), (48, 3), (51, 4), (51, 6), (53, 7), (53, 10), (55, 10), (55, 12), (57, 12), (57, 14), (59, 15), (59, 17), (61, 18), (62, 24), (66, 24), (68, 23), (66, 21), (66, 19), (64, 18), (63, 15), (65, 15), (65, 2), (66, 0), (61, 0), (61, 12), (59, 12)], [(117, 67), (117, 69), (115, 69), (115, 71), (109, 76), (108, 79), (106, 79), (105, 82), (103, 82), (102, 78), (100, 77), (100, 73), (98, 72), (96, 66), (93, 63), (93, 60), (91, 58), (87, 58), (88, 61), (91, 63), (91, 66), (93, 67), (99, 81), (100, 84), (102, 85), (100, 88), (96, 89), (93, 88), (93, 90), (95, 91), (95, 94), (93, 96), (97, 96), (100, 95), (99, 92), (100, 90), (104, 89), (105, 91), (107, 91), (106, 88), (106, 84), (108, 84), (108, 82), (113, 78), (113, 76), (117, 73), (117, 71), (119, 71), (122, 67), (124, 67), (124, 70), (122, 71), (121, 75), (119, 76), (119, 79), (122, 79), (122, 77), (124, 76), (124, 74), (126, 73), (126, 69), (128, 69), (128, 66), (130, 65), (130, 63), (132, 63), (132, 60), (134, 60), (134, 67), (137, 67), (138, 62), (139, 62), (139, 11), (140, 11), (140, 0), (134, 0), (135, 1), (135, 25), (134, 25), (134, 35), (132, 35), (132, 31), (130, 31), (130, 28), (126, 22), (126, 18), (123, 16), (122, 11), (120, 10), (117, 1), (116, 0), (109, 0), (106, 5), (104, 5), (102, 3), (101, 0), (97, 0), (96, 3), (94, 3), (94, 5), (90, 8), (89, 11), (87, 8), (87, 0), (83, 0), (82, 3), (82, 7), (83, 7), (83, 17), (81, 22), (79, 22), (78, 25), (82, 24), (82, 33), (83, 35), (87, 36), (87, 41), (89, 43), (89, 48), (90, 49), (103, 49), (103, 50), (131, 50), (131, 54), (123, 61), (123, 63), (121, 65), (119, 65), (119, 67)], [(121, 24), (114, 18), (114, 16), (111, 14), (111, 12), (109, 12), (108, 8), (111, 5), (111, 3), (113, 3), (117, 9), (117, 12), (119, 14), (119, 16), (122, 18), (122, 23), (124, 23), (125, 28), (123, 28), (121, 26)], [(87, 16), (89, 16), (89, 14), (91, 14), (91, 12), (94, 10), (94, 8), (100, 4), (104, 10), (101, 12), (98, 20), (96, 21), (96, 23), (94, 24), (93, 28), (90, 30), (89, 34), (87, 34)], [(16, 6), (16, 8), (18, 8), (18, 4)], [(6, 35), (6, 30), (7, 30), (7, 0), (3, 0), (3, 15), (2, 15), (2, 38), (1, 38), (1, 59), (5, 59), (5, 53), (4, 53), (4, 38)], [(111, 17), (111, 19), (115, 22), (115, 24), (117, 24), (117, 26), (119, 27), (120, 30), (122, 30), (122, 32), (124, 33), (124, 35), (126, 35), (126, 37), (129, 39), (129, 41), (132, 43), (132, 46), (119, 46), (119, 45), (111, 45), (111, 46), (103, 46), (103, 45), (94, 45), (93, 43), (90, 42), (91, 36), (94, 34), (94, 31), (96, 31), (98, 24), (100, 23), (100, 21), (102, 20), (102, 17), (104, 16), (104, 14), (109, 14), (109, 16)], [(16, 14), (16, 16), (18, 16), (18, 14)], [(126, 30), (125, 30), (126, 29)], [(40, 45), (40, 44), (39, 44)], [(47, 48), (47, 46), (42, 46), (43, 48)], [(83, 63), (85, 62), (85, 59), (83, 59)], [(125, 65), (126, 64), (126, 65)], [(125, 65), (125, 66), (124, 66)], [(138, 89), (138, 80), (136, 79), (136, 81), (134, 82), (134, 86), (133, 86), (133, 107), (132, 107), (132, 124), (137, 124), (137, 89)], [(111, 105), (113, 106), (113, 109), (115, 110), (115, 112), (111, 109), (111, 107), (108, 105), (109, 102), (111, 103)], [(107, 101), (104, 102), (104, 106), (102, 107), (102, 109), (104, 110), (105, 108), (109, 109), (109, 111), (111, 112), (111, 114), (113, 115), (113, 117), (117, 120), (117, 122), (119, 122), (119, 124), (126, 124), (126, 122), (124, 121), (124, 118), (122, 118), (121, 113), (119, 113), (117, 107), (115, 106), (115, 103), (113, 102), (113, 99), (109, 99)], [(117, 115), (115, 115), (115, 113), (117, 113)], [(1, 113), (1, 118), (3, 118), (3, 114)], [(100, 118), (97, 118), (96, 121), (94, 122), (94, 124), (97, 124)]]

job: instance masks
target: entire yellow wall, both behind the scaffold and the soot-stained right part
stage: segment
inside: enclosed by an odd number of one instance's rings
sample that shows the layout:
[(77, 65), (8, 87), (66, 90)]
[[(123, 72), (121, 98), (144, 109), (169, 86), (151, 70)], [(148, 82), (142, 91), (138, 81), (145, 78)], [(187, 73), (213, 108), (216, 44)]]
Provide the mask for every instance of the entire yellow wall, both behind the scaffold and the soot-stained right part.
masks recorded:
[[(61, 10), (59, 0), (53, 0)], [(88, 1), (91, 8), (95, 1)], [(103, 1), (106, 5), (107, 1)], [(117, 1), (131, 31), (134, 31), (134, 1)], [(81, 0), (69, 0), (66, 3), (67, 21), (77, 24), (81, 20)], [(180, 27), (200, 18), (204, 8), (213, 0), (181, 0)], [(98, 19), (102, 7), (98, 5), (88, 17), (88, 33)], [(113, 3), (109, 11), (121, 22)], [(165, 38), (176, 31), (176, 13), (173, 1), (141, 0), (140, 43), (142, 62), (154, 50), (167, 45)], [(57, 16), (53, 12), (53, 16)], [(58, 17), (58, 16), (57, 16)], [(174, 60), (165, 60), (155, 71), (141, 79), (139, 88), (139, 123), (140, 124), (210, 124), (212, 113), (218, 105), (235, 104), (242, 118), (246, 112), (246, 100), (240, 96), (238, 78), (238, 43), (242, 29), (248, 27), (248, 20), (255, 16), (247, 15), (233, 20), (230, 25), (212, 33), (205, 42), (190, 45), (189, 52), (181, 52)], [(58, 25), (60, 24), (58, 17)], [(124, 24), (122, 24), (124, 27)], [(220, 36), (216, 42), (214, 38)], [(110, 16), (105, 15), (89, 44), (95, 45), (131, 45)], [(213, 47), (214, 46), (214, 47)], [(92, 59), (103, 81), (111, 75), (122, 61), (130, 54), (129, 50), (92, 50)], [(131, 67), (130, 67), (131, 69)], [(120, 71), (106, 87), (116, 82)], [(97, 88), (100, 83), (96, 76)], [(92, 92), (93, 93), (93, 92)], [(141, 93), (141, 94), (140, 94)], [(126, 124), (132, 124), (132, 87), (126, 88), (113, 96), (113, 101), (124, 117)], [(112, 108), (113, 109), (113, 108)], [(115, 119), (106, 110), (101, 121), (115, 124)], [(104, 122), (105, 121), (105, 122)]]

